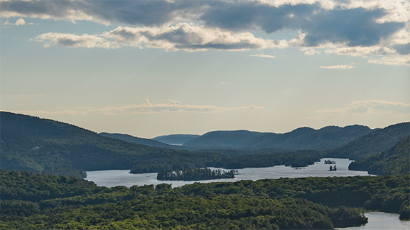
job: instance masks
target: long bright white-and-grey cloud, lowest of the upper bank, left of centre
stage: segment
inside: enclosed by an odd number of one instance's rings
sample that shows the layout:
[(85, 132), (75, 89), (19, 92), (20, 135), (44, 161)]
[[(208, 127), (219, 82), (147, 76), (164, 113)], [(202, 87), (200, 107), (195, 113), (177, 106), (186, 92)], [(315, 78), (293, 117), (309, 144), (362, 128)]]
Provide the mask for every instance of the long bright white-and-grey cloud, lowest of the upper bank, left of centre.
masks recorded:
[(44, 47), (118, 48), (165, 48), (167, 51), (248, 50), (252, 48), (285, 48), (286, 40), (270, 40), (254, 37), (252, 33), (233, 33), (219, 28), (181, 23), (161, 27), (117, 27), (96, 35), (73, 35), (69, 33), (44, 33), (35, 38), (45, 42)]

